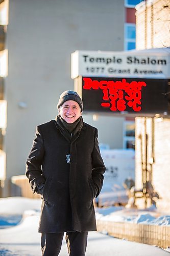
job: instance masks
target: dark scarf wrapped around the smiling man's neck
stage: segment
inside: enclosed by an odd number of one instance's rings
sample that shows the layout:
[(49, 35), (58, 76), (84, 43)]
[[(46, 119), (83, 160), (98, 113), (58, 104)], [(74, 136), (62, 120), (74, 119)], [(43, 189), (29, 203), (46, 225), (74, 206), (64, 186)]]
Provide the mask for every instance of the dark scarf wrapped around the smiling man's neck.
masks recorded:
[(56, 122), (60, 128), (61, 134), (69, 141), (79, 135), (83, 127), (83, 118), (80, 116), (74, 123), (67, 123), (60, 115), (56, 116)]

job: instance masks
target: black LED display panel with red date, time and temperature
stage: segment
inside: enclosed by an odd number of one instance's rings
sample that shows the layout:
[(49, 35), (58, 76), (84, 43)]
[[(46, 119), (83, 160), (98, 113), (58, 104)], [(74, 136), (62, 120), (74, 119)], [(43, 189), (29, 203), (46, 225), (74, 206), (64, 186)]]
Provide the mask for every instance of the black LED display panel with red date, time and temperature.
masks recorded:
[(84, 111), (163, 113), (167, 84), (166, 79), (81, 77), (78, 91)]

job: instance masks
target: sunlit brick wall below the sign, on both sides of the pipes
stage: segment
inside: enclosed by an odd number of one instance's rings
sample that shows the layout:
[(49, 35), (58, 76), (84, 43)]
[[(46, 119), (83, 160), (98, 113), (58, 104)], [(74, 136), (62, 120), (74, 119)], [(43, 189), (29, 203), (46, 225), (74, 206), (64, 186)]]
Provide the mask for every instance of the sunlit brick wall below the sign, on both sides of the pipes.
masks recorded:
[[(170, 212), (170, 119), (156, 117), (137, 117), (135, 122), (136, 188), (142, 188), (141, 140), (143, 145), (143, 167), (145, 167), (144, 135), (146, 131), (146, 133), (148, 134), (147, 179), (148, 181), (151, 181), (154, 190), (158, 193), (160, 197), (160, 199), (157, 200), (157, 207), (161, 210)], [(142, 139), (140, 139), (140, 137)], [(143, 207), (142, 203), (142, 200), (137, 200), (137, 204), (139, 207)]]

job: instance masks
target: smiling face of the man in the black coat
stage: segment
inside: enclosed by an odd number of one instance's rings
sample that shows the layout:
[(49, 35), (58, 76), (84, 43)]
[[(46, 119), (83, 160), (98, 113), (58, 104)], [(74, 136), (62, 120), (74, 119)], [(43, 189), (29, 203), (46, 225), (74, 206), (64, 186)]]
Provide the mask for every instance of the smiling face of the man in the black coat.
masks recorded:
[(82, 112), (76, 101), (67, 100), (60, 106), (59, 114), (67, 123), (74, 123), (81, 116)]

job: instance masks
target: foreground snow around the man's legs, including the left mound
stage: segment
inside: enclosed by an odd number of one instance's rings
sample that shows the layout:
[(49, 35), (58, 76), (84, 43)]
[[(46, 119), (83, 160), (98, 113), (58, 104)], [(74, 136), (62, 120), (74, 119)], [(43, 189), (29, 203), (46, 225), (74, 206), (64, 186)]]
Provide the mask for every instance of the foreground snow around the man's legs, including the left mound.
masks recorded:
[[(0, 255), (40, 256), (39, 215), (26, 217), (19, 225), (0, 230)], [(1, 254), (2, 253), (2, 254)], [(67, 255), (65, 238), (60, 256)], [(154, 246), (116, 239), (89, 232), (86, 256), (166, 256), (168, 252)]]

